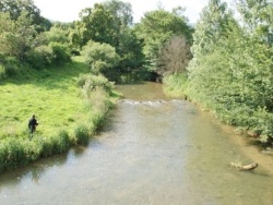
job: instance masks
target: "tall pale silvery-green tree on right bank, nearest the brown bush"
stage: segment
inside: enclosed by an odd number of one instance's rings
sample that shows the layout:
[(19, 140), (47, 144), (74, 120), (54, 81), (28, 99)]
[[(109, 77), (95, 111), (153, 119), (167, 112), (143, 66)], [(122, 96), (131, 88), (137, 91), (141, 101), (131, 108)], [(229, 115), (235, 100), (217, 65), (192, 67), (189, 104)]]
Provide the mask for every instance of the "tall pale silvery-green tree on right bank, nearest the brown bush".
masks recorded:
[(223, 110), (230, 109), (235, 98), (232, 99), (233, 74), (228, 59), (235, 52), (236, 46), (229, 46), (228, 43), (237, 41), (238, 38), (230, 37), (236, 32), (239, 34), (239, 25), (227, 10), (227, 4), (219, 0), (210, 0), (197, 23), (191, 47), (193, 59), (187, 68), (188, 92), (194, 100), (223, 106)]

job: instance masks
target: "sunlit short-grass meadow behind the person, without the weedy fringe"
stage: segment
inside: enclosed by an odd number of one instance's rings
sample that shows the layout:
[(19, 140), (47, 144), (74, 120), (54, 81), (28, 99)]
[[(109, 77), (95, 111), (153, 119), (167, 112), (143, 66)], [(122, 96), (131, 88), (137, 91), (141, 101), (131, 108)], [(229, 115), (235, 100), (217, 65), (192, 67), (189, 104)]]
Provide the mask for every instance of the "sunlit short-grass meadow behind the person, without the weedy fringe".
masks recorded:
[(37, 132), (51, 134), (56, 129), (71, 129), (84, 120), (83, 99), (76, 79), (88, 68), (73, 61), (62, 68), (25, 71), (0, 83), (0, 136), (27, 133), (28, 119), (36, 114)]

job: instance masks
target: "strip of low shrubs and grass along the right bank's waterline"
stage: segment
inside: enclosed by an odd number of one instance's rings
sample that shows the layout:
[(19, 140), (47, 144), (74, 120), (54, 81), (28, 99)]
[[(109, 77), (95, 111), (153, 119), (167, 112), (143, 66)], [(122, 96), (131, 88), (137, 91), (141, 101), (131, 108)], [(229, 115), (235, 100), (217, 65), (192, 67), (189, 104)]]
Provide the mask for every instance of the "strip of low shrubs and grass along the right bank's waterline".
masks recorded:
[(187, 96), (191, 101), (210, 110), (222, 122), (236, 126), (241, 134), (252, 133), (259, 136), (260, 142), (268, 145), (273, 142), (273, 113), (268, 109), (234, 101), (228, 95), (219, 98), (213, 97), (211, 95), (213, 92), (199, 92), (189, 85), (185, 73), (170, 75), (164, 79), (164, 83), (167, 85), (165, 91), (168, 94)]

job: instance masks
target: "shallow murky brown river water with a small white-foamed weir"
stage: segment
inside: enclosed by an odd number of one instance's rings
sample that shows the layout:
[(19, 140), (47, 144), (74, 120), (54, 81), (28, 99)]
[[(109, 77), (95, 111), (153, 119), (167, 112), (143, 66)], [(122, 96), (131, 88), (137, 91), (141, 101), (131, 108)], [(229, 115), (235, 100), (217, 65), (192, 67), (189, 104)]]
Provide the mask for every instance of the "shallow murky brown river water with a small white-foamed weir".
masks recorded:
[(0, 174), (0, 204), (273, 204), (272, 158), (159, 84), (117, 88), (124, 99), (87, 147)]

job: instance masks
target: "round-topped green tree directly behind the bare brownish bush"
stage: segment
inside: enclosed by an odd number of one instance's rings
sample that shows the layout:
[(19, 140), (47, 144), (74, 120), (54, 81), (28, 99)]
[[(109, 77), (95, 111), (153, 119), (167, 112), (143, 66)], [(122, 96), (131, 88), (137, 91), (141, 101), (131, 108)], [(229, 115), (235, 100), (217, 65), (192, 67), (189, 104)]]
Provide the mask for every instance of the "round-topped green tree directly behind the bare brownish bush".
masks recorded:
[(192, 29), (187, 23), (185, 16), (163, 9), (144, 14), (135, 31), (143, 40), (143, 52), (150, 71), (157, 70), (159, 51), (173, 36), (182, 35), (187, 41), (191, 41)]

